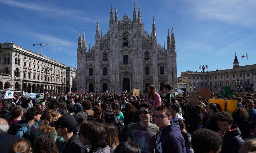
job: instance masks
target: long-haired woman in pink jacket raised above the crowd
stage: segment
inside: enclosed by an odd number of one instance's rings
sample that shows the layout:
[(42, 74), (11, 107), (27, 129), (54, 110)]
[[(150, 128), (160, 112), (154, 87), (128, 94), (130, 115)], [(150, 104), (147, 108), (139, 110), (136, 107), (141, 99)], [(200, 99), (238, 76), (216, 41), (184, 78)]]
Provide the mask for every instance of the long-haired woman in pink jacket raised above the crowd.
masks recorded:
[(162, 105), (160, 95), (156, 92), (155, 86), (150, 84), (147, 86), (147, 98), (146, 101), (153, 105), (153, 113), (155, 108)]

